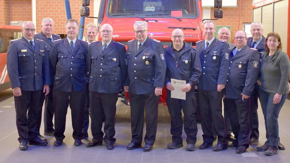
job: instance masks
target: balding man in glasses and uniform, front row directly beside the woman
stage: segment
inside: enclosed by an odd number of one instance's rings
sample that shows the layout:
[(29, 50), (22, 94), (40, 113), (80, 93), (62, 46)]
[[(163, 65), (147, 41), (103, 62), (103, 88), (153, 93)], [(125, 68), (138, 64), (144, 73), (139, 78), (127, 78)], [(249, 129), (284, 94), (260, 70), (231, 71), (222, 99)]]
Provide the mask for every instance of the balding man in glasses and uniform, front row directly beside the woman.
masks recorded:
[(247, 46), (247, 34), (237, 31), (236, 47), (230, 49), (230, 67), (225, 90), (226, 109), (230, 116), (235, 139), (229, 147), (236, 147), (237, 153), (244, 153), (249, 147), (252, 131), (249, 115), (253, 114), (251, 98), (260, 69), (260, 55)]

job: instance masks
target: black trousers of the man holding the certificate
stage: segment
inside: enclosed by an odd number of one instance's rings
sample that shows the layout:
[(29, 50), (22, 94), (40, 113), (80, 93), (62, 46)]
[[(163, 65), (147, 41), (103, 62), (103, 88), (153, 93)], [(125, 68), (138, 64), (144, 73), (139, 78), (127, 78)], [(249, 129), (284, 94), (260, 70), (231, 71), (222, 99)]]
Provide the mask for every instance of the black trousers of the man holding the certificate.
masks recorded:
[(196, 112), (196, 96), (194, 88), (186, 92), (186, 100), (171, 98), (171, 91), (167, 90), (167, 107), (171, 116), (172, 141), (182, 143), (182, 114), (184, 114), (184, 132), (186, 133), (186, 143), (195, 144), (197, 134), (197, 124), (195, 118)]

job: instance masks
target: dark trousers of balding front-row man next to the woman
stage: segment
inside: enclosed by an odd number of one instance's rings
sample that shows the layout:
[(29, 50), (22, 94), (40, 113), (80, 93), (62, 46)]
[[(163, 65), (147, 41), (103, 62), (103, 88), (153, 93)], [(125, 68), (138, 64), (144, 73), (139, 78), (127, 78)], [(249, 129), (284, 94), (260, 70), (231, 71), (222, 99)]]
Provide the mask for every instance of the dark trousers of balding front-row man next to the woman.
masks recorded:
[(250, 115), (253, 114), (251, 109), (251, 98), (232, 99), (226, 98), (227, 111), (230, 116), (232, 132), (237, 138), (232, 143), (240, 148), (246, 150), (249, 147), (249, 139), (252, 128), (250, 126)]

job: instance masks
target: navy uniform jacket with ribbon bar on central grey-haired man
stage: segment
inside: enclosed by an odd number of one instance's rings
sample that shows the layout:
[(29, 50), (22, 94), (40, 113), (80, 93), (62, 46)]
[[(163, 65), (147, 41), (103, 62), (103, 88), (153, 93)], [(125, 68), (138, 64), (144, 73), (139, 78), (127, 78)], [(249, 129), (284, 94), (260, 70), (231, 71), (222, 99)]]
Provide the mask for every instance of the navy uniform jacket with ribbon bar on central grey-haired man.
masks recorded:
[[(129, 82), (129, 93), (154, 93), (155, 87), (163, 88), (164, 85), (166, 62), (163, 45), (160, 41), (147, 37), (137, 53), (137, 43), (137, 40), (130, 41), (127, 49), (126, 81)], [(128, 86), (127, 82), (125, 86)]]

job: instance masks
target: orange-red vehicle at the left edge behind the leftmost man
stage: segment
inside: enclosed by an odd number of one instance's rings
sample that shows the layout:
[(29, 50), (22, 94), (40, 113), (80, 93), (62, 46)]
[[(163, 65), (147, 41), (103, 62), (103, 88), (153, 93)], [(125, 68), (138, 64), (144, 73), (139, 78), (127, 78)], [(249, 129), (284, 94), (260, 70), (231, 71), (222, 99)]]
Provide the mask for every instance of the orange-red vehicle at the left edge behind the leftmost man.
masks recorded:
[(11, 88), (7, 74), (6, 57), (11, 40), (22, 37), (21, 26), (0, 25), (0, 91)]

